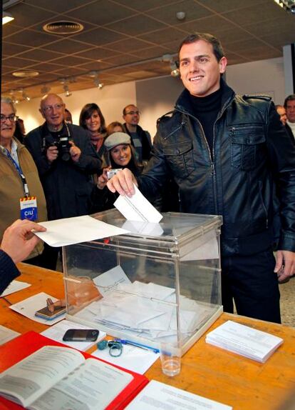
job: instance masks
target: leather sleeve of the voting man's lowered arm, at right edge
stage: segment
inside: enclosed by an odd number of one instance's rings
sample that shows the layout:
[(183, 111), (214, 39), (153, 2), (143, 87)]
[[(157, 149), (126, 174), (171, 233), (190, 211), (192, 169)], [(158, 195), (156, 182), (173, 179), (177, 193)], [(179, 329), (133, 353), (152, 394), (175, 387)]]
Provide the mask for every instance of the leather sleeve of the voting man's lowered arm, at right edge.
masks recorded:
[(278, 249), (295, 251), (295, 146), (269, 107), (268, 149), (280, 202), (281, 233)]

